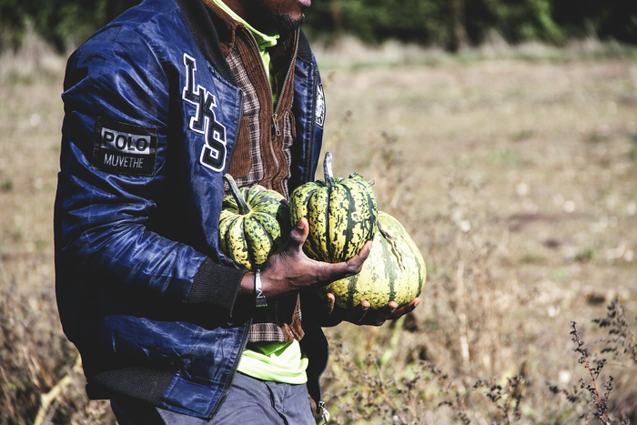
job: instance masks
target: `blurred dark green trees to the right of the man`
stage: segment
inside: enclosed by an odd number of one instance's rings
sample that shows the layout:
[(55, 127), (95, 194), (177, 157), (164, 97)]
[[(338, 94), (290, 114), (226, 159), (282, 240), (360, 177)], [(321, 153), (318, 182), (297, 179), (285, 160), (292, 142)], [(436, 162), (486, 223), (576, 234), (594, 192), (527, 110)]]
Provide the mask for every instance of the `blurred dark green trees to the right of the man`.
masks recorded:
[(637, 0), (318, 0), (308, 32), (396, 38), (457, 51), (497, 34), (510, 44), (595, 36), (637, 44)]

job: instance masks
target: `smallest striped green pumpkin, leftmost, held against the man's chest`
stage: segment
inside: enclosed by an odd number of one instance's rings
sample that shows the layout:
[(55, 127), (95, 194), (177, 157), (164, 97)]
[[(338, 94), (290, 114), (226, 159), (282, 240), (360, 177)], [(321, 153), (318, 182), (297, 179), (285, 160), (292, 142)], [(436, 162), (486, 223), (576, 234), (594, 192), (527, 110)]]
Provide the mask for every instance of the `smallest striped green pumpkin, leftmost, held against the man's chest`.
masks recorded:
[(288, 201), (259, 185), (239, 189), (229, 174), (224, 177), (232, 195), (223, 200), (219, 248), (238, 266), (257, 270), (288, 239)]

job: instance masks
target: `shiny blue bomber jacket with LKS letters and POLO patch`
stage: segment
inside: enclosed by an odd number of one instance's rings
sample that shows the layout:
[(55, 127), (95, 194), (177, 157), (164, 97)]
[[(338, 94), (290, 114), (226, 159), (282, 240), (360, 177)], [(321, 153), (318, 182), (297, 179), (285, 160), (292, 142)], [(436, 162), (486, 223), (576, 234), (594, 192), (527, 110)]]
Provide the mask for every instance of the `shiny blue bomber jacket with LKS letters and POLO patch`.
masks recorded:
[[(290, 189), (313, 179), (324, 102), (300, 34)], [(243, 96), (200, 0), (146, 0), (69, 58), (55, 206), (56, 298), (90, 398), (125, 395), (211, 418), (251, 311), (217, 246)], [(304, 323), (308, 390), (328, 348)]]

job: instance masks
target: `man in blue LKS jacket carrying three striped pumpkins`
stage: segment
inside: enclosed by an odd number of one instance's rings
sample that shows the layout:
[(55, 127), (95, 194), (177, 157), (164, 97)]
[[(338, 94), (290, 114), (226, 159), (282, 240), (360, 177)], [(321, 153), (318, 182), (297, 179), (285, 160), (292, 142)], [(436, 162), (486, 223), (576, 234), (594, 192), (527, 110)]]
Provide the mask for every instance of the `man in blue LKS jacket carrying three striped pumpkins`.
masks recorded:
[[(89, 398), (110, 399), (122, 425), (315, 423), (320, 326), (339, 314), (303, 289), (359, 272), (370, 243), (314, 261), (301, 220), (260, 272), (217, 245), (225, 173), (286, 197), (314, 177), (324, 108), (299, 30), (309, 4), (147, 0), (69, 58), (56, 296)], [(418, 303), (364, 303), (350, 320)]]

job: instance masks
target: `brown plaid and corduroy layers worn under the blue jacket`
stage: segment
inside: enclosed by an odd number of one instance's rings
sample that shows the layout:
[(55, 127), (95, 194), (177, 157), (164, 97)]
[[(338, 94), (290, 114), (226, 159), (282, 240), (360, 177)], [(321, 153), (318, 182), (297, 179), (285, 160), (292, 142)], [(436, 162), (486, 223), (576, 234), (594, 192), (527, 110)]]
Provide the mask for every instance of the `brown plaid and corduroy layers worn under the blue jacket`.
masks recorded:
[[(297, 35), (279, 40), (276, 47), (278, 52), (273, 54), (275, 60), (278, 57), (278, 62), (285, 64), (279, 66), (281, 70), (278, 71), (278, 76), (284, 78), (281, 80), (284, 82), (278, 85), (283, 88), (275, 109), (268, 77), (254, 40), (251, 39), (252, 35), (242, 25), (233, 26), (232, 23), (236, 21), (227, 22), (229, 16), (216, 6), (208, 6), (219, 17), (226, 19), (226, 24), (234, 35), (233, 43), (224, 45), (222, 41), (222, 46), (229, 47), (227, 63), (235, 74), (238, 87), (244, 93), (243, 122), (228, 172), (238, 187), (259, 184), (288, 198), (290, 149), (295, 137), (295, 119), (291, 111), (294, 73), (288, 73), (288, 69), (296, 60)], [(273, 121), (274, 111), (278, 131)], [(229, 193), (226, 183), (226, 195)], [(248, 342), (289, 342), (302, 338), (300, 298), (298, 295), (291, 295), (277, 301), (268, 301), (267, 308), (257, 309)]]

